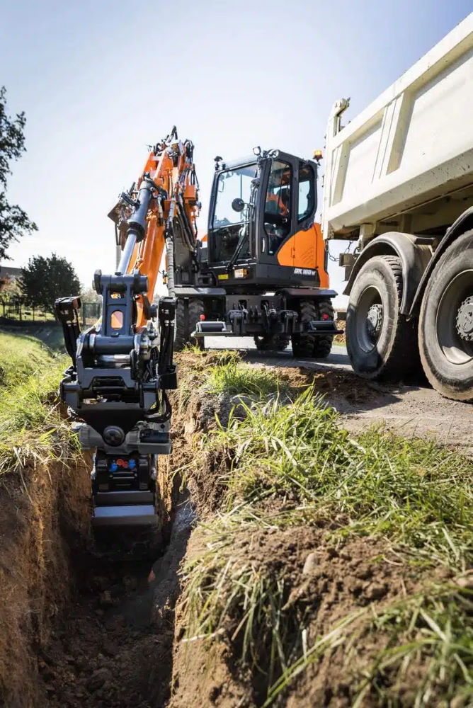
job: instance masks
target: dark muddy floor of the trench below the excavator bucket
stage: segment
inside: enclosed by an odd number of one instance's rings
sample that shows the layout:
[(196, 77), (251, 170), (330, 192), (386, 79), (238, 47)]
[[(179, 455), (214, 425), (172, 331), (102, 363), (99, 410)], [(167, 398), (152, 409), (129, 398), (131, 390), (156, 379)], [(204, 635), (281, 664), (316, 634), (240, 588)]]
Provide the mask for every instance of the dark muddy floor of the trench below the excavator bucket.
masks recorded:
[(152, 560), (73, 557), (75, 603), (38, 666), (47, 705), (164, 708), (169, 700), (178, 567), (195, 514), (181, 493)]

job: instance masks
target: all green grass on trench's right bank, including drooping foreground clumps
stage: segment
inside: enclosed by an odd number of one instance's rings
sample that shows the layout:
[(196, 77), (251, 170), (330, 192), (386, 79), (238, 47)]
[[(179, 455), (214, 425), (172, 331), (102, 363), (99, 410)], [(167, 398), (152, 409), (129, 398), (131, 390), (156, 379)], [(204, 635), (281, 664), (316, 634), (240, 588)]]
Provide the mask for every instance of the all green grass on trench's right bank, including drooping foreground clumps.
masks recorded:
[[(214, 390), (242, 392), (234, 369), (212, 376), (220, 383)], [(277, 384), (273, 379), (273, 390)], [(363, 629), (372, 646), (377, 634), (386, 641), (358, 676), (353, 706), (363, 706), (367, 692), (380, 707), (401, 706), (397, 686), (414, 660), (426, 675), (402, 705), (427, 707), (433, 695), (435, 705), (467, 705), (462, 701), (473, 691), (471, 590), (426, 588), (374, 617), (364, 607), (304, 646), (307, 617), (300, 607), (285, 605), (290, 581), (284, 563), (275, 569), (261, 559), (242, 561), (235, 549), (241, 538), (257, 538), (263, 529), (326, 525), (326, 538), (335, 544), (357, 536), (380, 539), (419, 578), (438, 566), (450, 576), (465, 573), (473, 562), (470, 459), (380, 429), (350, 435), (312, 388), (288, 406), (248, 407), (243, 420), (231, 416), (204, 445), (231, 462), (223, 513), (200, 526), (203, 549), (183, 568), (188, 637), (212, 640), (230, 631), (237, 657), (266, 685), (269, 706), (340, 644), (347, 647), (348, 670), (350, 647)]]

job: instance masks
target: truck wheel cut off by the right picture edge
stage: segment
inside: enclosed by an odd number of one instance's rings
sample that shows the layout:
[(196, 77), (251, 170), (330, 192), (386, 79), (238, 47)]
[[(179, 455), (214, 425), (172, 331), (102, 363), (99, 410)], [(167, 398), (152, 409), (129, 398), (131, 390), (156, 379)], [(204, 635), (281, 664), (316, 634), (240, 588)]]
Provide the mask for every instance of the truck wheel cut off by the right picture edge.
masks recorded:
[(473, 400), (473, 231), (440, 256), (423, 294), (418, 347), (433, 388)]

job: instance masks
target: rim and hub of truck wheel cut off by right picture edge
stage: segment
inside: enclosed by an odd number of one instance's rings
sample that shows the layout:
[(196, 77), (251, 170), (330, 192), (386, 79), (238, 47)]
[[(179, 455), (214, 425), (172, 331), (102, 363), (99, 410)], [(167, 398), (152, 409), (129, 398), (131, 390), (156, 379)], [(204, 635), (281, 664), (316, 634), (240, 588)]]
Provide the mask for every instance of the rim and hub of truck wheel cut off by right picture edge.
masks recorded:
[(473, 270), (455, 275), (438, 304), (435, 329), (445, 358), (455, 365), (473, 360)]

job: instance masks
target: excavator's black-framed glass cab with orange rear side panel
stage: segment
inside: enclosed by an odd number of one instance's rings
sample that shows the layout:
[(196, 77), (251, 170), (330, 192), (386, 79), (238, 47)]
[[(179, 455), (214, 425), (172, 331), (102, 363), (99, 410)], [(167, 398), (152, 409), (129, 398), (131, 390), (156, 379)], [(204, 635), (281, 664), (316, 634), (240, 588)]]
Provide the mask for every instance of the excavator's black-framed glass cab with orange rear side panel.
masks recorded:
[(219, 284), (320, 285), (324, 244), (314, 232), (317, 163), (271, 150), (216, 159), (207, 263)]

